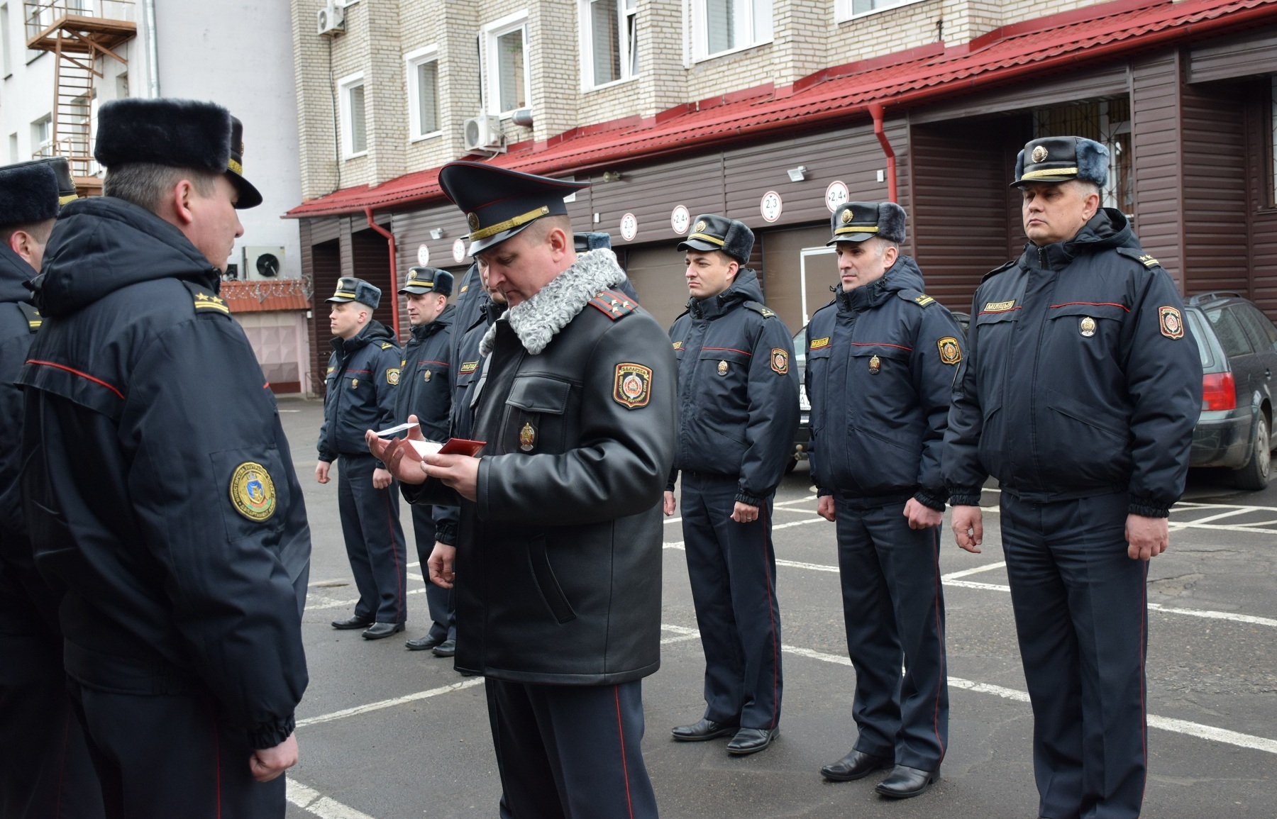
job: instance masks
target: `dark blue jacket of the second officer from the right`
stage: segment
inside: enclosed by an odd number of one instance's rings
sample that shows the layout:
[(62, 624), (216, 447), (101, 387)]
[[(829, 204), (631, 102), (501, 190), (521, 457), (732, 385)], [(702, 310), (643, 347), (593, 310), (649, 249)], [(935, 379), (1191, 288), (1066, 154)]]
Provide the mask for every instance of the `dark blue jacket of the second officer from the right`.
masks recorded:
[(962, 329), (899, 256), (882, 278), (807, 325), (811, 464), (820, 495), (871, 505), (914, 496), (944, 510), (940, 454), (962, 360)]

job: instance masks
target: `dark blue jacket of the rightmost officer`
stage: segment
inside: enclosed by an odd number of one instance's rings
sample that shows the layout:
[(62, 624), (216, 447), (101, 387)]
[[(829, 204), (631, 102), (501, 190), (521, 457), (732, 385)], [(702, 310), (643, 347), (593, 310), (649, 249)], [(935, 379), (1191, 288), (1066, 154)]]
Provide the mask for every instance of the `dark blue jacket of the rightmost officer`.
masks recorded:
[(945, 439), (951, 500), (974, 505), (992, 475), (1033, 503), (1126, 491), (1131, 513), (1165, 517), (1200, 408), (1179, 291), (1105, 208), (976, 291)]

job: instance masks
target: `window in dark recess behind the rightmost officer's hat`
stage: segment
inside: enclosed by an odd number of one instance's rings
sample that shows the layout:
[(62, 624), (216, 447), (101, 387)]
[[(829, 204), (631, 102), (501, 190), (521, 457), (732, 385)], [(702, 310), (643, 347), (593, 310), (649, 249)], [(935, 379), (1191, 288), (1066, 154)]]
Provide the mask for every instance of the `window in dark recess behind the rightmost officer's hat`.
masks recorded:
[(1135, 214), (1134, 166), (1130, 142), (1130, 100), (1077, 102), (1033, 112), (1033, 138), (1085, 136), (1108, 148), (1108, 182), (1102, 191), (1102, 204), (1117, 208), (1128, 217)]

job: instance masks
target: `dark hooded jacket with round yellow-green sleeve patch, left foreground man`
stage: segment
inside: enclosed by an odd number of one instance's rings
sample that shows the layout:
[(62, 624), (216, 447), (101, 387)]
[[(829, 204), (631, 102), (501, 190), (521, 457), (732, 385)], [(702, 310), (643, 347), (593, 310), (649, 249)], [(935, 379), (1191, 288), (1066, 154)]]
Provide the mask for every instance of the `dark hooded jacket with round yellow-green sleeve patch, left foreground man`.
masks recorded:
[(66, 671), (208, 690), (277, 745), (306, 688), (310, 531), (218, 270), (149, 210), (94, 196), (63, 208), (41, 278), (23, 491), (37, 565), (66, 589)]

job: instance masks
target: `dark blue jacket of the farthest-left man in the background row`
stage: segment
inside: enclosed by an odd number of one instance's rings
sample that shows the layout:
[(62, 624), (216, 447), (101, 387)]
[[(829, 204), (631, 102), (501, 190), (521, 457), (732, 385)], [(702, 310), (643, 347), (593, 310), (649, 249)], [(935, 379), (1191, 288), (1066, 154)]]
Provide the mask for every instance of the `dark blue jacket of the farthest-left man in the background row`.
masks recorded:
[(319, 461), (331, 463), (337, 455), (365, 455), (364, 432), (397, 424), (395, 395), (402, 360), (395, 334), (374, 319), (354, 338), (332, 339)]

